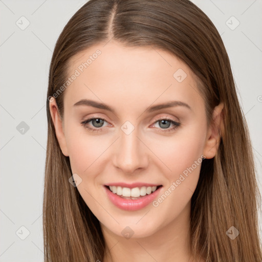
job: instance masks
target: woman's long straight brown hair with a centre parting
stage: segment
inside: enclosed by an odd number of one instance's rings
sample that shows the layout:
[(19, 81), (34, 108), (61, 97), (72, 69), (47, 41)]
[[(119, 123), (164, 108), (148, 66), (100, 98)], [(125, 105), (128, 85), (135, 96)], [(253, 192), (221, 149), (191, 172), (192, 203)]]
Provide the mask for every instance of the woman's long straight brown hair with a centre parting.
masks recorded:
[[(130, 47), (159, 48), (187, 63), (205, 99), (208, 124), (214, 107), (224, 102), (219, 149), (214, 158), (202, 162), (191, 200), (190, 245), (193, 255), (201, 254), (206, 261), (262, 261), (257, 223), (260, 193), (229, 58), (211, 20), (188, 0), (91, 0), (61, 32), (47, 92), (45, 261), (103, 261), (106, 252), (99, 221), (69, 183), (70, 161), (59, 147), (49, 100), (69, 77), (70, 58), (111, 39)], [(61, 92), (56, 97), (61, 117), (63, 96)], [(232, 226), (239, 231), (234, 239), (226, 233)]]

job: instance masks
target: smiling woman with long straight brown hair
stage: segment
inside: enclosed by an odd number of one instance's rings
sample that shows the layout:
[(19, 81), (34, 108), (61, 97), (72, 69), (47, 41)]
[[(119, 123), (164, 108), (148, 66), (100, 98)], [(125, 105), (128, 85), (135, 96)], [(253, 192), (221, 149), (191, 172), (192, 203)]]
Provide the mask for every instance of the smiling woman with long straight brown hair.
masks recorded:
[(46, 261), (261, 261), (227, 52), (185, 0), (91, 0), (47, 94)]

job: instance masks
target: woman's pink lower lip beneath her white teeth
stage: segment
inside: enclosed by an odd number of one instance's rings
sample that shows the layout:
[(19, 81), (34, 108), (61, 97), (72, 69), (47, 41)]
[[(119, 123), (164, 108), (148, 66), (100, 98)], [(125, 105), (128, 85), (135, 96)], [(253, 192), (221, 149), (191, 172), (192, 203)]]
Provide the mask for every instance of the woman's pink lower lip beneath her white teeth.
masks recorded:
[(146, 207), (148, 204), (154, 201), (154, 199), (157, 197), (161, 189), (160, 187), (155, 192), (152, 192), (151, 194), (146, 194), (144, 197), (141, 197), (140, 199), (132, 200), (132, 199), (123, 199), (119, 197), (118, 194), (114, 194), (107, 187), (104, 186), (104, 188), (111, 202), (118, 208), (126, 211), (136, 211)]

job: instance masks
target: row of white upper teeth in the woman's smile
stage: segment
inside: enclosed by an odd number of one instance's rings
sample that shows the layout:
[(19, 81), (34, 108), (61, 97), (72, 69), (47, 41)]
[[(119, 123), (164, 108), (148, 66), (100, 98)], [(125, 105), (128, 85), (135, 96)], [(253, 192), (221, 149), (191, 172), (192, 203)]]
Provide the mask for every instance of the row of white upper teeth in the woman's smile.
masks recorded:
[(157, 186), (142, 186), (141, 188), (128, 188), (121, 186), (109, 186), (110, 190), (117, 195), (122, 195), (122, 197), (131, 197), (131, 198), (139, 198), (140, 196), (144, 196), (146, 194), (151, 194), (157, 190)]

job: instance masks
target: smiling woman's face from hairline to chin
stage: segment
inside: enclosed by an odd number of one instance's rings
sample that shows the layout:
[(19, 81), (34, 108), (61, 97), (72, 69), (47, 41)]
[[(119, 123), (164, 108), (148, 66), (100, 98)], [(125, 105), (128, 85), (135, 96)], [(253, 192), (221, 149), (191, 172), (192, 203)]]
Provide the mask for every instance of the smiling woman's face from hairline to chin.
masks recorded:
[(63, 122), (55, 100), (50, 110), (77, 189), (102, 227), (145, 237), (185, 210), (188, 217), (202, 157), (215, 155), (216, 141), (187, 65), (110, 41), (71, 59), (69, 77)]

